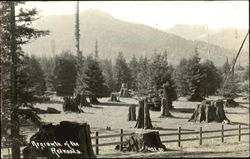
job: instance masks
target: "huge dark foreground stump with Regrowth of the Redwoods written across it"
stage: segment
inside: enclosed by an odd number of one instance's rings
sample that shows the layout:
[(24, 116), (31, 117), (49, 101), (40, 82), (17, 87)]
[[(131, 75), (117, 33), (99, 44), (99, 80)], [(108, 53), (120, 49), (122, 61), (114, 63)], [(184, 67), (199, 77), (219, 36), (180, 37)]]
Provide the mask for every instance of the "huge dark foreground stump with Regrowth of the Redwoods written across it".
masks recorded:
[(23, 158), (95, 158), (90, 126), (87, 123), (62, 121), (59, 125), (42, 125), (23, 150)]

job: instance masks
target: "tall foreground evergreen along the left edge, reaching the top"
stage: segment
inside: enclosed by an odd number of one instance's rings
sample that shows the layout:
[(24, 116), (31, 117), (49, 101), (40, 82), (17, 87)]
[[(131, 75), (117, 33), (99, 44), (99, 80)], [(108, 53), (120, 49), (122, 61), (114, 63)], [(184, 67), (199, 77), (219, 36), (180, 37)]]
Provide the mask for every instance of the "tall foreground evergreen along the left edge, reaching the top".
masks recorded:
[[(20, 124), (23, 120), (31, 119), (39, 122), (39, 117), (33, 112), (32, 104), (28, 103), (27, 96), (29, 90), (23, 83), (25, 72), (23, 67), (22, 45), (32, 39), (48, 34), (48, 31), (41, 31), (33, 28), (32, 22), (37, 19), (38, 12), (35, 8), (20, 8), (18, 14), (15, 13), (15, 6), (24, 2), (1, 2), (0, 5), (0, 28), (1, 28), (1, 65), (4, 66), (1, 72), (4, 74), (4, 88), (1, 88), (2, 107), (2, 136), (9, 138), (12, 146), (12, 158), (20, 158), (20, 144), (24, 141), (20, 135)], [(2, 68), (1, 68), (2, 69)], [(2, 92), (3, 90), (3, 92)], [(30, 109), (22, 109), (22, 107)], [(11, 129), (11, 136), (7, 130)]]

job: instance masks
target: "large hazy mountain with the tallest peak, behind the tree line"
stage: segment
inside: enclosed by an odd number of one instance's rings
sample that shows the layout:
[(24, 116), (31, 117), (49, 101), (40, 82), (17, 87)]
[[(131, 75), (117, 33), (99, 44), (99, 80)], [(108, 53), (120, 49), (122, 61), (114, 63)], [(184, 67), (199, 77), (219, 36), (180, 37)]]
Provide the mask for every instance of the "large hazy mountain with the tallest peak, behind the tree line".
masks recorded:
[[(51, 56), (51, 46), (55, 44), (56, 53), (71, 50), (75, 53), (75, 16), (53, 15), (40, 18), (33, 24), (39, 29), (49, 29), (49, 36), (39, 38), (24, 46), (29, 54)], [(80, 13), (80, 48), (83, 55), (94, 52), (98, 40), (100, 58), (114, 60), (119, 51), (125, 58), (133, 55), (152, 56), (154, 50), (168, 52), (169, 63), (178, 64), (183, 57), (190, 57), (197, 47), (203, 59), (208, 58), (208, 44), (203, 41), (186, 40), (178, 35), (167, 33), (143, 24), (129, 23), (115, 19), (111, 15), (96, 9), (88, 9)], [(52, 44), (53, 43), (53, 44)], [(210, 44), (211, 60), (222, 65), (226, 56), (232, 58), (235, 50), (225, 49)], [(247, 59), (245, 63), (248, 62)], [(241, 62), (242, 63), (242, 62)]]

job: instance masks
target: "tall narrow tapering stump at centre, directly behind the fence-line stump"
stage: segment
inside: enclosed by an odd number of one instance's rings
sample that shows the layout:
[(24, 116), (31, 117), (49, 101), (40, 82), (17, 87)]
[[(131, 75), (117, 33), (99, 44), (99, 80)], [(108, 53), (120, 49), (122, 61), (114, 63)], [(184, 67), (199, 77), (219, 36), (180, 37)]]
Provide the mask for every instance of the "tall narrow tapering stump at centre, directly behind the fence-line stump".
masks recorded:
[(152, 129), (153, 125), (150, 119), (149, 107), (147, 98), (139, 101), (139, 110), (137, 115), (137, 122), (135, 128)]

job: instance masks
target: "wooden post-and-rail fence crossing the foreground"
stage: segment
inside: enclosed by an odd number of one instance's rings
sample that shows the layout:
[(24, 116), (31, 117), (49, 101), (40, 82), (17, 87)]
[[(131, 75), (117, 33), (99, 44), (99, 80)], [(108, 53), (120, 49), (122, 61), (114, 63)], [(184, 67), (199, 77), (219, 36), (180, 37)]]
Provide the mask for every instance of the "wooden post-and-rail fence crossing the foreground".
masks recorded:
[[(246, 129), (249, 129), (249, 126), (241, 127), (241, 125), (238, 125), (237, 128), (225, 129), (224, 125), (222, 125), (220, 130), (203, 131), (202, 127), (200, 127), (199, 131), (182, 132), (181, 127), (179, 127), (178, 131), (176, 133), (163, 133), (163, 134), (160, 133), (160, 136), (177, 136), (177, 139), (174, 139), (174, 140), (162, 140), (162, 143), (177, 142), (178, 147), (180, 147), (181, 142), (183, 142), (183, 141), (199, 140), (199, 145), (202, 145), (202, 141), (205, 140), (205, 139), (221, 138), (221, 142), (224, 142), (225, 137), (232, 137), (232, 136), (238, 136), (238, 141), (241, 141), (241, 136), (249, 135), (249, 131), (247, 133), (242, 133), (241, 132), (242, 130), (246, 130)], [(236, 130), (238, 132), (237, 134), (228, 134), (228, 135), (224, 134), (224, 132), (236, 131)], [(203, 137), (203, 134), (216, 133), (216, 132), (217, 133), (220, 132), (221, 135)], [(92, 145), (92, 146), (95, 147), (96, 155), (99, 155), (99, 147), (102, 147), (102, 146), (121, 145), (120, 150), (122, 151), (122, 144), (126, 143), (126, 141), (123, 140), (123, 137), (124, 136), (130, 136), (130, 135), (133, 135), (133, 134), (134, 133), (123, 133), (123, 129), (121, 129), (119, 134), (112, 134), (112, 135), (99, 136), (99, 133), (96, 132), (95, 136), (91, 137), (92, 140), (95, 140), (95, 144)], [(184, 135), (198, 135), (198, 137), (195, 137), (195, 138), (182, 138)], [(103, 138), (115, 138), (115, 137), (120, 137), (120, 141), (119, 142), (100, 143), (100, 140), (99, 140), (99, 139), (103, 139)]]

